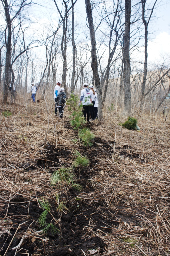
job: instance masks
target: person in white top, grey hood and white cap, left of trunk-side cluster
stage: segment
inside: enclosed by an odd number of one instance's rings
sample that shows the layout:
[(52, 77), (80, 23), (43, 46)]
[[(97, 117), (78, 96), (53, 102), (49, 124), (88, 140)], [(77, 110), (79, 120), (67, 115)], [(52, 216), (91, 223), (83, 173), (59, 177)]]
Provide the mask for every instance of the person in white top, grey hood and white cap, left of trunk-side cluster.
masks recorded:
[(82, 102), (83, 104), (83, 114), (84, 114), (84, 119), (86, 120), (86, 115), (87, 115), (87, 122), (90, 121), (90, 104), (92, 104), (92, 93), (90, 89), (88, 88), (88, 84), (84, 83), (83, 84), (84, 89), (81, 90), (81, 96), (80, 96), (80, 102), (79, 106)]

